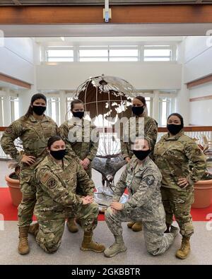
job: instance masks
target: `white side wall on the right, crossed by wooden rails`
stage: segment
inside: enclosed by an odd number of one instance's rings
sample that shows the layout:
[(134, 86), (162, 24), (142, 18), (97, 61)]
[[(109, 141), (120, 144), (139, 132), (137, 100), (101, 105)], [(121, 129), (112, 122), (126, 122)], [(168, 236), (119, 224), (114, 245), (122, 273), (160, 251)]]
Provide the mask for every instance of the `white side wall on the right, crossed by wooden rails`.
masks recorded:
[[(212, 45), (209, 37), (187, 37), (184, 41), (184, 83), (204, 78), (212, 73)], [(212, 95), (212, 83), (189, 89), (189, 98)], [(189, 123), (212, 125), (212, 100), (189, 102)]]

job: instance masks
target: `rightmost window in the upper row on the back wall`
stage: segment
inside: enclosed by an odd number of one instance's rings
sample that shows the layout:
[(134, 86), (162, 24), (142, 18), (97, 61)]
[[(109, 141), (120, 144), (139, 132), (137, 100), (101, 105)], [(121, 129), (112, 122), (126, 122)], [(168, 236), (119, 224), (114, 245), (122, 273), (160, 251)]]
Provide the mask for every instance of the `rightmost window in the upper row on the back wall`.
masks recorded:
[(144, 61), (171, 61), (172, 49), (167, 46), (145, 45), (143, 50)]

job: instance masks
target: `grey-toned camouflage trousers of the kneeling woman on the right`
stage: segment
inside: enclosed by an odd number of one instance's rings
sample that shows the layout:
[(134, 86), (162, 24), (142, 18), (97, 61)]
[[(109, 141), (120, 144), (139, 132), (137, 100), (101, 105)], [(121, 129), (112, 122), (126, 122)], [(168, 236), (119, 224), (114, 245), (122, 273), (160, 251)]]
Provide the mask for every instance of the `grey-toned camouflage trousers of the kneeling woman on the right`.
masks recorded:
[(105, 220), (114, 236), (122, 235), (122, 222), (142, 222), (147, 251), (156, 256), (163, 254), (174, 241), (172, 234), (164, 234), (166, 226), (165, 211), (162, 204), (158, 210), (160, 215), (158, 215), (158, 218), (152, 219), (143, 212), (142, 208), (117, 210), (116, 213), (113, 213), (111, 208), (107, 208)]

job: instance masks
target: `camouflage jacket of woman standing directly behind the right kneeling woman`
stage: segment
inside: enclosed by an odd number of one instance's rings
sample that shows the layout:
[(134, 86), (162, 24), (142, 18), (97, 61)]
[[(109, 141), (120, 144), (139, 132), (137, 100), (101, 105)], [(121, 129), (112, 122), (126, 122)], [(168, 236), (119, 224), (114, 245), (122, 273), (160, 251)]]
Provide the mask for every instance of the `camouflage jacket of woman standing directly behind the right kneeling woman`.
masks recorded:
[[(131, 144), (133, 143), (131, 140), (132, 138), (135, 138), (139, 136), (139, 119), (143, 119), (143, 121), (141, 122), (142, 126), (143, 126), (143, 133), (141, 134), (141, 136), (145, 137), (150, 146), (151, 149), (154, 149), (155, 143), (157, 141), (157, 136), (158, 136), (158, 125), (157, 122), (155, 121), (155, 119), (151, 118), (151, 117), (136, 117), (136, 128), (134, 128), (134, 125), (131, 127), (129, 127), (128, 131), (126, 130), (127, 128), (125, 128), (124, 130), (124, 135), (129, 133), (129, 142), (124, 142), (124, 137), (121, 138), (121, 148), (122, 148), (122, 156), (123, 158), (129, 157), (132, 158), (132, 156), (134, 155), (131, 151)], [(129, 121), (128, 121), (129, 124)], [(128, 125), (126, 125), (128, 126)], [(136, 134), (134, 135), (134, 131), (136, 132)]]

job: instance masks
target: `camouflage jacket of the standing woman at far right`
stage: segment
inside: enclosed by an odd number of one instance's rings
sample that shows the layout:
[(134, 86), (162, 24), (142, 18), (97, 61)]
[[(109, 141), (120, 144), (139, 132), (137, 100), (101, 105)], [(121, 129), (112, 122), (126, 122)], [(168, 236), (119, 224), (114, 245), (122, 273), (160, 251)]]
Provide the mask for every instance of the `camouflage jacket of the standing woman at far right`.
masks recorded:
[(167, 188), (179, 189), (180, 177), (186, 177), (192, 186), (206, 171), (204, 153), (183, 131), (172, 137), (166, 133), (155, 145), (154, 160), (163, 175), (162, 186)]

